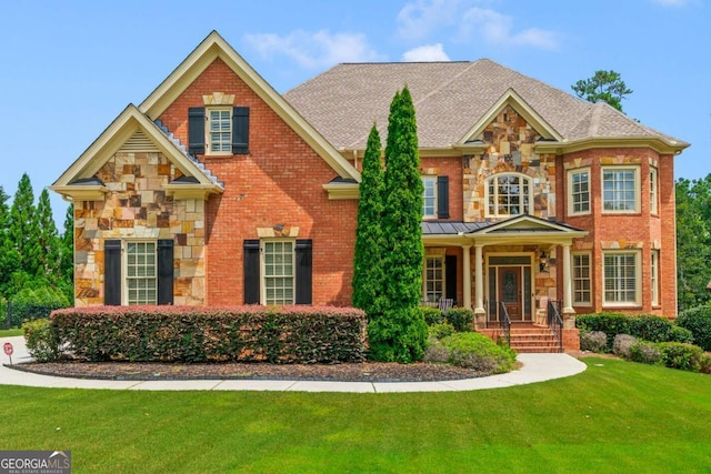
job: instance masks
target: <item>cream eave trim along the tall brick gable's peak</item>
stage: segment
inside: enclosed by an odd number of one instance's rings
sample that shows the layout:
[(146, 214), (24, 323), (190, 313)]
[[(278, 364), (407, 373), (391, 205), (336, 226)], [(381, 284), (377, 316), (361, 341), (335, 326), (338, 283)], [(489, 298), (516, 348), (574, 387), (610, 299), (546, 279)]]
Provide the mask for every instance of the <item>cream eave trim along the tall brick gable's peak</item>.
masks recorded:
[(139, 105), (152, 119), (160, 114), (217, 59), (220, 58), (291, 129), (343, 178), (360, 182), (360, 173), (307, 122), (261, 75), (217, 32), (208, 37)]

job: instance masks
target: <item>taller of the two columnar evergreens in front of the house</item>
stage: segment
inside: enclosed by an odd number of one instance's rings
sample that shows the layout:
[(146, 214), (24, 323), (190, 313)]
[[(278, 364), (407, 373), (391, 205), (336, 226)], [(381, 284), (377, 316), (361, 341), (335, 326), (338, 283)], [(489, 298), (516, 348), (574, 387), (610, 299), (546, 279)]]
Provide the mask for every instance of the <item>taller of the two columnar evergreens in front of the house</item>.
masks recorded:
[(409, 363), (424, 354), (427, 324), (422, 300), (422, 179), (417, 122), (405, 87), (390, 105), (385, 145), (385, 236), (382, 314), (368, 326), (371, 359)]

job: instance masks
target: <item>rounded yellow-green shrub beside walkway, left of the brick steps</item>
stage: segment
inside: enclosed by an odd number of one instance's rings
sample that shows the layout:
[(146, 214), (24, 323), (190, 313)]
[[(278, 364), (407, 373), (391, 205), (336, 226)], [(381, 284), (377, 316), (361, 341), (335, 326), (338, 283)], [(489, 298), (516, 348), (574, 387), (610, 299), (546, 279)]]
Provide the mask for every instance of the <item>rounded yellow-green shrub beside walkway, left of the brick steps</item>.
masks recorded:
[(449, 351), (448, 362), (477, 372), (500, 374), (515, 364), (515, 352), (497, 345), (491, 339), (475, 332), (454, 333), (440, 340)]

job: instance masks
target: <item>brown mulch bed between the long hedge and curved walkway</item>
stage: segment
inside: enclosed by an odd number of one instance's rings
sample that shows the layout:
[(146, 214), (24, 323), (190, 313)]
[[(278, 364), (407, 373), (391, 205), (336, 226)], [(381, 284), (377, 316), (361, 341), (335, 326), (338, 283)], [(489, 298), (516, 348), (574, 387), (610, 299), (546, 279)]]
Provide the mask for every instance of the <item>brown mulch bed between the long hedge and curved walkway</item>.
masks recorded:
[[(10, 365), (6, 366), (10, 367)], [(16, 364), (12, 369), (42, 375), (101, 380), (308, 380), (344, 382), (431, 382), (484, 375), (470, 369), (443, 364), (346, 363), (133, 363), (48, 362)]]

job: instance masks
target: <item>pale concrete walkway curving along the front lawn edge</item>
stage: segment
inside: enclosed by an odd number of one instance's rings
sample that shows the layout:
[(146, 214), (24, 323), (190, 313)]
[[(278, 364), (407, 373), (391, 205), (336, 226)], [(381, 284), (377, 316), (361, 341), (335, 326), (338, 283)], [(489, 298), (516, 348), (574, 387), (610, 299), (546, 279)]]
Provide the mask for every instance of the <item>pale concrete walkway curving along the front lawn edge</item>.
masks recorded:
[[(3, 337), (0, 345), (10, 342), (14, 354), (12, 363), (30, 362), (24, 337)], [(9, 364), (4, 353), (2, 364)], [(523, 366), (513, 372), (488, 377), (443, 382), (319, 382), (268, 380), (183, 380), (183, 381), (110, 381), (38, 375), (0, 366), (1, 385), (44, 386), (54, 389), (102, 390), (216, 390), (216, 391), (281, 391), (281, 392), (451, 392), (482, 389), (500, 389), (513, 385), (544, 382), (579, 374), (585, 364), (568, 354), (519, 354)]]

